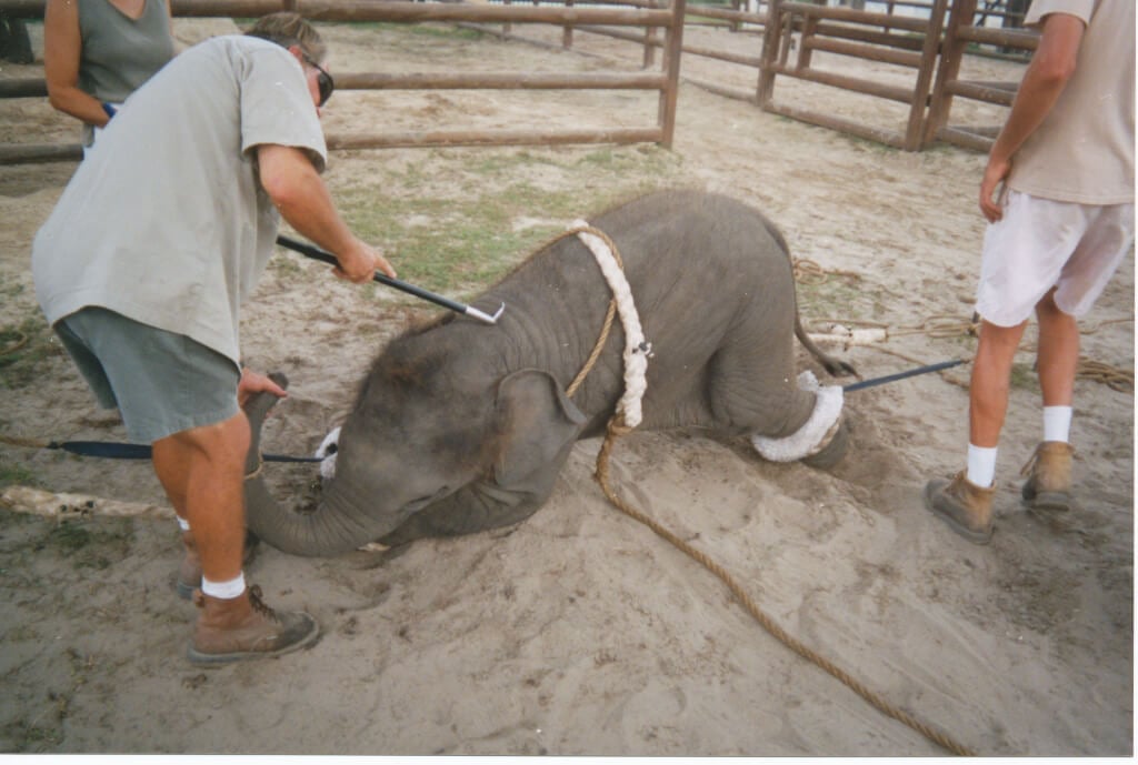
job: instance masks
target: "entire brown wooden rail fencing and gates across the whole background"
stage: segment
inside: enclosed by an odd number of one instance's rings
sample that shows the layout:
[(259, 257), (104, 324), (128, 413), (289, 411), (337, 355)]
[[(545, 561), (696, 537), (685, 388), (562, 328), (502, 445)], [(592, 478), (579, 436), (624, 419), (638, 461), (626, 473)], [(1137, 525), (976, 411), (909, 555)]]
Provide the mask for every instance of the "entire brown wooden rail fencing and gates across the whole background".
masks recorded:
[[(675, 131), (681, 53), (702, 56), (754, 68), (754, 91), (740, 91), (693, 77), (707, 90), (757, 103), (767, 111), (843, 131), (906, 150), (920, 150), (946, 141), (987, 151), (998, 125), (950, 124), (955, 98), (1009, 106), (1017, 83), (962, 80), (960, 64), (970, 45), (1004, 51), (1032, 51), (1038, 35), (1017, 28), (984, 26), (988, 17), (1005, 27), (1021, 23), (1023, 0), (892, 0), (889, 13), (856, 8), (831, 8), (797, 0), (732, 0), (733, 7), (691, 6), (685, 0), (503, 0), (502, 5), (402, 2), (372, 0), (173, 0), (176, 16), (259, 16), (284, 7), (314, 20), (453, 22), (498, 36), (535, 42), (513, 32), (514, 24), (552, 24), (562, 27), (561, 47), (572, 48), (575, 32), (627, 40), (644, 49), (643, 72), (624, 74), (337, 74), (343, 89), (628, 89), (659, 92), (657, 124), (643, 128), (552, 131), (431, 131), (404, 133), (331, 134), (331, 149), (427, 145), (501, 145), (556, 143), (655, 142), (670, 147)], [(586, 1), (586, 0), (580, 0)], [(754, 10), (750, 10), (750, 3)], [(599, 7), (600, 6), (600, 7)], [(615, 6), (613, 8), (607, 6)], [(14, 16), (42, 15), (43, 0), (0, 0), (0, 11)], [(920, 8), (927, 18), (893, 14), (894, 7)], [(682, 19), (718, 19), (736, 31), (761, 31), (753, 55), (683, 42)], [(947, 22), (947, 23), (946, 23)], [(633, 30), (629, 27), (641, 27)], [(659, 30), (665, 30), (661, 39)], [(544, 44), (544, 43), (543, 43)], [(797, 55), (791, 55), (797, 47)], [(653, 72), (654, 50), (663, 49), (663, 66)], [(853, 77), (813, 66), (814, 51), (860, 58), (912, 70), (905, 84)], [(778, 77), (840, 88), (908, 107), (904, 131), (866, 125), (802, 108), (775, 98)], [(0, 98), (42, 97), (41, 81), (0, 80)], [(24, 144), (0, 145), (0, 164), (52, 160), (79, 156), (77, 147)]]

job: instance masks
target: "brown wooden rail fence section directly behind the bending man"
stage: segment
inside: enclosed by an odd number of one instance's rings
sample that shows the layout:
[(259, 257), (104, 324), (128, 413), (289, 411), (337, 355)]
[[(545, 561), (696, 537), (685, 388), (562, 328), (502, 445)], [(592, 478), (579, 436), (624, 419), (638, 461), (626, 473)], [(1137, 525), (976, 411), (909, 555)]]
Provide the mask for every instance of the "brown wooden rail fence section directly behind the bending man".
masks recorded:
[[(670, 148), (675, 134), (676, 99), (679, 80), (679, 50), (683, 44), (684, 0), (673, 0), (668, 9), (635, 7), (541, 8), (529, 6), (472, 6), (435, 2), (372, 2), (369, 0), (173, 0), (179, 17), (258, 17), (278, 10), (295, 10), (316, 22), (452, 22), (516, 24), (603, 24), (624, 27), (665, 30), (662, 72), (629, 74), (533, 74), (533, 73), (451, 73), (451, 74), (371, 74), (336, 75), (343, 90), (374, 89), (509, 89), (567, 90), (620, 89), (652, 90), (659, 93), (657, 124), (650, 127), (550, 131), (430, 131), (402, 133), (330, 134), (329, 149), (438, 145), (523, 145), (563, 143), (655, 142)], [(616, 3), (615, 3), (616, 5)], [(43, 16), (43, 0), (0, 0), (0, 13), (18, 18)], [(42, 80), (0, 80), (0, 98), (47, 95)], [(77, 144), (0, 144), (0, 165), (28, 161), (79, 159)]]

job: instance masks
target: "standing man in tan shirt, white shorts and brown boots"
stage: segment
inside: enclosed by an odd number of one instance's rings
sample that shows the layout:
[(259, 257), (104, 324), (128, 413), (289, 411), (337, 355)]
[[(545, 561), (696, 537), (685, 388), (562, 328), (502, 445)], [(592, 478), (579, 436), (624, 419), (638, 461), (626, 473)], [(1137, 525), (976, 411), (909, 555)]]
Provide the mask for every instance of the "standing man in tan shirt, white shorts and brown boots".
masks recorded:
[(1070, 509), (1077, 318), (1102, 294), (1135, 231), (1133, 0), (1034, 0), (1025, 23), (1042, 35), (980, 185), (990, 225), (967, 468), (924, 491), (930, 510), (981, 544), (992, 534), (1012, 360), (1032, 310), (1044, 440), (1024, 468), (1022, 493), (1033, 509)]

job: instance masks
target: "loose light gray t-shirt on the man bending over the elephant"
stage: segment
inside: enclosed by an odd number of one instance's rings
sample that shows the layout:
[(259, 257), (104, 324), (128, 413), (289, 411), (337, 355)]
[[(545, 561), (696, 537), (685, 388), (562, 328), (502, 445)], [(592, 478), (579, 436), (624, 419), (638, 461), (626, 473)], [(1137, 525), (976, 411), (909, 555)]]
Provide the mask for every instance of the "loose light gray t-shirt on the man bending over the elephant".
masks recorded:
[(306, 150), (323, 133), (296, 58), (230, 35), (184, 51), (131, 97), (32, 246), (48, 321), (101, 306), (238, 361), (238, 308), (273, 251), (280, 216), (258, 144)]

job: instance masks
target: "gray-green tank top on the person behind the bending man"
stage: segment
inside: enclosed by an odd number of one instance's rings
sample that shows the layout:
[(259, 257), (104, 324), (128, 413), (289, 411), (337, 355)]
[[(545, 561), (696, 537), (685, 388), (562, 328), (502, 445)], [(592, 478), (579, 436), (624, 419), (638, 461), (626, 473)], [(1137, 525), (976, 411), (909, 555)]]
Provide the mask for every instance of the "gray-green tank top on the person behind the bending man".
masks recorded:
[(79, 89), (100, 101), (122, 103), (174, 57), (165, 0), (146, 0), (138, 19), (107, 0), (80, 0), (79, 28)]

